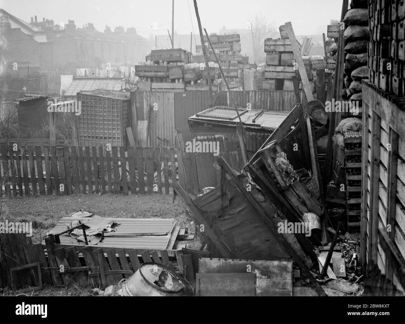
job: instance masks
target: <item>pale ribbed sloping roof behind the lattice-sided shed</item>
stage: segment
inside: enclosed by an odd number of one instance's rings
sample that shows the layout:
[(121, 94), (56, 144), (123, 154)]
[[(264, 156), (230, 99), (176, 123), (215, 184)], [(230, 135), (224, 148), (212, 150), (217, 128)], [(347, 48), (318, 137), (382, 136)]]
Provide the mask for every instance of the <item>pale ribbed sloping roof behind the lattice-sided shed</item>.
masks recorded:
[(77, 78), (63, 94), (64, 97), (76, 96), (79, 91), (95, 89), (122, 90), (122, 78)]

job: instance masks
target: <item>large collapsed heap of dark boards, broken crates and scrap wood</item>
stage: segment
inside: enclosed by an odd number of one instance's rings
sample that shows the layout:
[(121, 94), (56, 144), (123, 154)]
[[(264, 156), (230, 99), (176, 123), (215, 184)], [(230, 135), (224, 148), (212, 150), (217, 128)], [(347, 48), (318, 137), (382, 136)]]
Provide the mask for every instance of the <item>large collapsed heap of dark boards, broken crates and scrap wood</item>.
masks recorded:
[[(298, 151), (294, 149), (294, 143), (298, 143)], [(324, 247), (330, 241), (330, 235), (335, 235), (319, 198), (319, 183), (312, 181), (316, 179), (313, 173), (317, 171), (311, 168), (309, 151), (303, 109), (296, 105), (245, 165), (242, 173), (233, 170), (220, 157), (217, 163), (222, 180), (218, 187), (194, 200), (178, 184), (174, 189), (190, 209), (196, 224), (203, 226), (200, 234), (211, 257), (283, 258), (292, 261), (300, 271), (300, 279), (294, 279), (292, 284), (292, 295), (356, 294), (358, 284), (341, 280), (355, 281), (354, 277), (340, 272), (350, 260), (342, 258), (341, 251), (339, 255), (335, 251), (329, 258), (324, 253), (333, 252), (341, 235), (337, 235), (334, 244)], [(309, 223), (311, 232), (288, 231), (287, 226), (283, 229), (280, 225), (288, 223)], [(318, 246), (323, 250), (319, 251)], [(325, 263), (328, 267), (321, 275)], [(339, 276), (334, 271), (339, 271)], [(233, 278), (242, 280), (236, 275)], [(207, 278), (198, 280), (208, 285)], [(250, 279), (246, 276), (243, 280), (248, 282)], [(309, 287), (310, 290), (301, 289)], [(275, 292), (269, 294), (277, 295)]]

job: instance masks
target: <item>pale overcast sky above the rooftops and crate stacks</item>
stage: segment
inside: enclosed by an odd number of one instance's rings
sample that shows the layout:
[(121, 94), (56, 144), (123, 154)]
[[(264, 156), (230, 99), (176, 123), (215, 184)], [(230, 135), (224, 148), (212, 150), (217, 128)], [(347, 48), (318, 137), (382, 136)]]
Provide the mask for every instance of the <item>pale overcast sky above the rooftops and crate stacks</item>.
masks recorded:
[[(326, 33), (330, 19), (340, 19), (341, 0), (197, 0), (201, 24), (208, 33), (227, 29), (246, 28), (249, 20), (264, 15), (275, 26), (291, 21), (296, 35)], [(105, 25), (135, 27), (138, 34), (171, 32), (171, 0), (0, 0), (0, 8), (10, 14), (30, 21), (35, 15), (53, 19), (55, 24), (74, 20), (77, 27), (93, 23), (104, 31)], [(191, 17), (190, 17), (191, 16)], [(175, 32), (198, 33), (193, 0), (175, 0)]]

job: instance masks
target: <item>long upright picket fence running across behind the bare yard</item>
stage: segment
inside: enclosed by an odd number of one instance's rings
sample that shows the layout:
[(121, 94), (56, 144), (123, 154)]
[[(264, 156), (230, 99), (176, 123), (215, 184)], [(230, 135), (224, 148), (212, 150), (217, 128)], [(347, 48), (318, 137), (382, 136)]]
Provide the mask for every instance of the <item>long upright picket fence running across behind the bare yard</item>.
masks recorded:
[[(111, 148), (111, 150), (110, 150)], [(174, 147), (0, 146), (0, 197), (79, 193), (169, 194)], [(183, 155), (179, 164), (183, 166)], [(184, 168), (179, 183), (185, 185)], [(4, 191), (4, 193), (3, 193)]]

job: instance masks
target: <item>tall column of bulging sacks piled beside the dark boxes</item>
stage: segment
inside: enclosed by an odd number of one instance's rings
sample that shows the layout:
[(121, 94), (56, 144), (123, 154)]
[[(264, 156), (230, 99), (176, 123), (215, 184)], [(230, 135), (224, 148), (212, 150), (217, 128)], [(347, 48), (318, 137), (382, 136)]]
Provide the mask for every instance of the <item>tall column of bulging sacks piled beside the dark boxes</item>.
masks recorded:
[(361, 80), (369, 77), (367, 44), (370, 40), (367, 0), (352, 0), (345, 19), (345, 88), (347, 98), (361, 104)]

